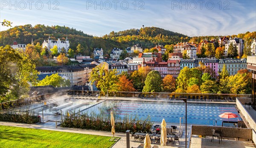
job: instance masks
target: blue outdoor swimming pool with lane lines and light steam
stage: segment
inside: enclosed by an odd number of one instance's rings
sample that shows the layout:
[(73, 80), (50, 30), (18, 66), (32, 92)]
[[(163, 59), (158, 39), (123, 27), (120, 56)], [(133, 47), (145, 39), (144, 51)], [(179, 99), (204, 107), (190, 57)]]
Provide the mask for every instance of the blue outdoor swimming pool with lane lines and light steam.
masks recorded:
[[(163, 118), (168, 123), (180, 123), (180, 117), (185, 116), (185, 103), (180, 102), (146, 102), (146, 101), (104, 101), (84, 110), (88, 114), (110, 114), (113, 111), (117, 118), (132, 116), (146, 119), (148, 116), (152, 122), (161, 122)], [(221, 103), (188, 103), (187, 123), (200, 125), (221, 126), (222, 120), (227, 120), (218, 115), (224, 112), (232, 112), (237, 118), (229, 121), (241, 120), (235, 109), (235, 104)], [(183, 120), (182, 120), (183, 122)]]

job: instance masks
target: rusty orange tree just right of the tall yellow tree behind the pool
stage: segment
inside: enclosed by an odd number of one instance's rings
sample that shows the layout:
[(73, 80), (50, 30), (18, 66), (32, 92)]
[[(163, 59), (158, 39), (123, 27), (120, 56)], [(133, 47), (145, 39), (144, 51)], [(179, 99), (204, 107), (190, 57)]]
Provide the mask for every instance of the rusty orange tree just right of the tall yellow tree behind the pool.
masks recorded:
[(120, 92), (135, 92), (136, 89), (134, 89), (132, 80), (129, 80), (126, 78), (125, 75), (121, 75), (119, 77), (119, 82), (118, 82), (118, 91)]

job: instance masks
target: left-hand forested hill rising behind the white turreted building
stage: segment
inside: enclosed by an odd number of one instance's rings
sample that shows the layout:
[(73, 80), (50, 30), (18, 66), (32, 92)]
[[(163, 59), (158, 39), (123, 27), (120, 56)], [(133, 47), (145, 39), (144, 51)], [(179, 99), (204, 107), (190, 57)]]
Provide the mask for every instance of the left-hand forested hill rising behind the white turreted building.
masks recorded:
[(17, 41), (18, 44), (29, 44), (32, 39), (34, 44), (37, 42), (42, 44), (49, 36), (53, 40), (57, 40), (58, 38), (65, 40), (66, 36), (68, 36), (70, 48), (75, 50), (76, 46), (80, 43), (84, 47), (83, 54), (87, 56), (92, 53), (95, 47), (102, 47), (106, 53), (110, 53), (113, 47), (128, 47), (126, 44), (84, 34), (83, 31), (77, 31), (74, 28), (40, 24), (34, 27), (32, 25), (15, 26), (7, 31), (1, 31), (0, 46), (12, 45), (13, 41)]

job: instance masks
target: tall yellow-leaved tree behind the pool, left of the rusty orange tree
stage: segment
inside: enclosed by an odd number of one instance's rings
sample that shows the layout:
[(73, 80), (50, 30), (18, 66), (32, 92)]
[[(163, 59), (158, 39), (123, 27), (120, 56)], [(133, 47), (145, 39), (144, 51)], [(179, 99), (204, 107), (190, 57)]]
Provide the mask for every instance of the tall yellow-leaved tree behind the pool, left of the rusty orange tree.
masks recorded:
[(101, 91), (107, 94), (108, 91), (116, 92), (118, 89), (118, 77), (116, 76), (116, 69), (105, 70), (104, 65), (96, 66), (90, 73), (90, 81), (95, 82), (96, 86)]

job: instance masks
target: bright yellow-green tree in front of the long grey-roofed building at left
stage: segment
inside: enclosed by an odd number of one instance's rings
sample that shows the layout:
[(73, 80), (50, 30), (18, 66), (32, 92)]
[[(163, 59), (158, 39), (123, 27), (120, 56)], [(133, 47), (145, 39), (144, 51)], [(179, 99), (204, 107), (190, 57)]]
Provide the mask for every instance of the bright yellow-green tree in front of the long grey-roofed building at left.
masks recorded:
[(53, 87), (70, 87), (70, 81), (58, 75), (58, 73), (46, 76), (43, 80), (39, 81), (37, 86), (52, 85)]

